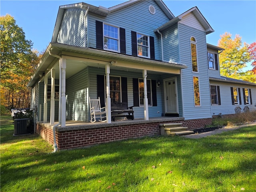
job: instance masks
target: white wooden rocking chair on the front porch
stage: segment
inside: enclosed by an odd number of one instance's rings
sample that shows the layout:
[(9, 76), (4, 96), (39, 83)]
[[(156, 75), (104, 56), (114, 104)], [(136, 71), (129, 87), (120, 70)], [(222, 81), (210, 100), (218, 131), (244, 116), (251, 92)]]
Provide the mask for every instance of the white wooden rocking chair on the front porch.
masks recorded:
[[(90, 100), (90, 114), (91, 114), (91, 120), (90, 122), (94, 123), (96, 122), (96, 118), (100, 118), (100, 122), (106, 122), (106, 120), (102, 120), (102, 118), (106, 118), (106, 116), (102, 116), (103, 114), (106, 115), (106, 107), (100, 107), (100, 97), (98, 99), (91, 99)], [(98, 116), (98, 117), (96, 117)]]

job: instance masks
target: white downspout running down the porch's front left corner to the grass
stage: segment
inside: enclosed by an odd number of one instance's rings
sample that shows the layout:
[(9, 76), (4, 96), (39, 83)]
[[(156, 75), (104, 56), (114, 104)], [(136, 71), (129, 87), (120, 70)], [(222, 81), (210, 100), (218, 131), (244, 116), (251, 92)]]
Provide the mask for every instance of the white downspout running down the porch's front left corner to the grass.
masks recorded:
[[(61, 78), (61, 57), (56, 55), (56, 54), (52, 54), (51, 51), (49, 50), (49, 54), (53, 57), (56, 57), (59, 59), (59, 66), (60, 66), (60, 78), (59, 78), (59, 92), (61, 93), (61, 84), (62, 84), (62, 78)], [(59, 126), (61, 124), (61, 97), (59, 97), (59, 117), (58, 117), (58, 123), (56, 125), (53, 126), (52, 128), (52, 132), (53, 132), (53, 148), (54, 151), (52, 153), (55, 153), (58, 151), (58, 147), (57, 147), (57, 142), (56, 142), (56, 135), (55, 135), (55, 129), (57, 126)]]

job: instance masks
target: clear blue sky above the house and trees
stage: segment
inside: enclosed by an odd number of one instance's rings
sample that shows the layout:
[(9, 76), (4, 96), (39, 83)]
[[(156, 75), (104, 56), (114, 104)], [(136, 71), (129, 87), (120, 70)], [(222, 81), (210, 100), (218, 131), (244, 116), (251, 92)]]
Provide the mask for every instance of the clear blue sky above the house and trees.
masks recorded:
[[(33, 48), (41, 52), (52, 39), (54, 25), (61, 5), (85, 2), (94, 6), (111, 7), (120, 0), (0, 0), (0, 15), (10, 14), (31, 40)], [(230, 32), (234, 39), (236, 34), (242, 42), (251, 44), (256, 41), (256, 0), (163, 0), (174, 16), (197, 6), (202, 15), (215, 30), (206, 36), (207, 43), (216, 45), (220, 35)], [(247, 70), (250, 69), (248, 65)]]

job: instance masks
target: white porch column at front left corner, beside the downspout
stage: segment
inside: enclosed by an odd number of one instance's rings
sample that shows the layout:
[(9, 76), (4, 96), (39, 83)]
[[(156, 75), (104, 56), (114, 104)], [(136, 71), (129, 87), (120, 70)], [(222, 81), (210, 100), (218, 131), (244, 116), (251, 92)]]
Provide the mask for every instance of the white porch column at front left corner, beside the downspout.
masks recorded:
[(66, 59), (62, 58), (61, 67), (61, 127), (66, 127)]

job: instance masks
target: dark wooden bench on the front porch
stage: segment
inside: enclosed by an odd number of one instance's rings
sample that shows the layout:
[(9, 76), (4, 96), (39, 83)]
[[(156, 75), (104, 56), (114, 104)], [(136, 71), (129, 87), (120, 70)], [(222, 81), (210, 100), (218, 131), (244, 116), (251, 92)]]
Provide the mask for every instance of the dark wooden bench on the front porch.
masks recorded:
[(117, 117), (125, 117), (134, 120), (133, 106), (128, 107), (127, 102), (111, 103), (111, 119), (115, 121)]

